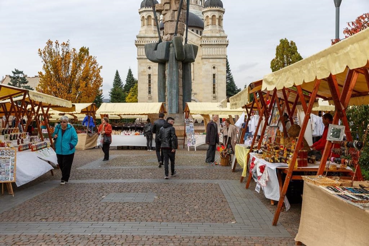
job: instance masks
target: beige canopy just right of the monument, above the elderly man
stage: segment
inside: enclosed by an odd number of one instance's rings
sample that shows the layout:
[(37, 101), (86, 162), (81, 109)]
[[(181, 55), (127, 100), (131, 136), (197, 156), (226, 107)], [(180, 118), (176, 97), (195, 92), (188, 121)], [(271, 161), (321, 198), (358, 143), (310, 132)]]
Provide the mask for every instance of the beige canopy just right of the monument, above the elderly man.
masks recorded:
[(230, 109), (230, 103), (227, 103), (226, 108), (221, 108), (218, 105), (219, 103), (188, 102), (184, 110), (189, 111), (191, 114), (199, 115), (242, 115), (244, 112), (244, 109), (241, 107)]

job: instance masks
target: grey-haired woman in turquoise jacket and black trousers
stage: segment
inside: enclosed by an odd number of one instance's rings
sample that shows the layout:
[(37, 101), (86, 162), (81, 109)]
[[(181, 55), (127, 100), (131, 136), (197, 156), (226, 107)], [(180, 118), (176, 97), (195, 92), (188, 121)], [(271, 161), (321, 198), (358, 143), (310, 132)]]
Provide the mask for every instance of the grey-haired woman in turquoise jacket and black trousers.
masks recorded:
[(77, 132), (68, 122), (67, 116), (63, 115), (60, 117), (60, 124), (55, 127), (52, 134), (58, 165), (62, 171), (60, 185), (65, 185), (69, 181), (70, 169), (72, 168), (74, 153), (78, 143)]

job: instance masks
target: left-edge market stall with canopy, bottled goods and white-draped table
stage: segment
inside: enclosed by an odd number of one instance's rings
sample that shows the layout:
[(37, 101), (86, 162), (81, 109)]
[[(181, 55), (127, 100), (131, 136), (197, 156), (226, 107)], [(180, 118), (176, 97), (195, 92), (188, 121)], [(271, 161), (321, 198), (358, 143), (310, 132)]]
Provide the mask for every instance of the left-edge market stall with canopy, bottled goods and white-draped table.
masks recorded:
[[(1, 113), (6, 117), (16, 117), (16, 126), (14, 128), (6, 128), (1, 130), (1, 155), (9, 156), (14, 153), (14, 160), (10, 167), (13, 172), (13, 178), (1, 177), (1, 182), (15, 182), (18, 186), (25, 184), (45, 172), (52, 170), (51, 163), (56, 166), (55, 151), (50, 148), (52, 144), (51, 129), (46, 124), (46, 131), (49, 139), (44, 139), (43, 135), (28, 136), (24, 132), (28, 124), (35, 121), (40, 129), (41, 120), (47, 119), (48, 110), (50, 108), (63, 110), (71, 108), (72, 103), (67, 100), (59, 99), (54, 96), (46, 95), (32, 90), (25, 90), (9, 85), (0, 85), (0, 105)], [(27, 117), (26, 126), (23, 125), (23, 117)], [(20, 123), (20, 127), (18, 127)], [(23, 132), (22, 132), (23, 131)], [(9, 152), (13, 151), (14, 152)], [(10, 153), (7, 155), (7, 153)], [(47, 152), (47, 153), (46, 153)], [(9, 168), (2, 165), (1, 168)], [(7, 174), (7, 171), (1, 172)], [(17, 174), (17, 175), (15, 175)], [(11, 185), (7, 186), (11, 189)], [(12, 192), (12, 191), (11, 191)]]

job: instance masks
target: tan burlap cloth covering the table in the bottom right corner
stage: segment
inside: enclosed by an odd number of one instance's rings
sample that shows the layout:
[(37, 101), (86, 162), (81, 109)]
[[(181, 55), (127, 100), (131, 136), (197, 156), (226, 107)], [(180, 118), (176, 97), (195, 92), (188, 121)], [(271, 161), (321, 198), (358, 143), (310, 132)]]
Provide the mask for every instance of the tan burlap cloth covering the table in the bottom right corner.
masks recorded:
[(368, 245), (369, 211), (304, 182), (299, 232), (305, 245)]

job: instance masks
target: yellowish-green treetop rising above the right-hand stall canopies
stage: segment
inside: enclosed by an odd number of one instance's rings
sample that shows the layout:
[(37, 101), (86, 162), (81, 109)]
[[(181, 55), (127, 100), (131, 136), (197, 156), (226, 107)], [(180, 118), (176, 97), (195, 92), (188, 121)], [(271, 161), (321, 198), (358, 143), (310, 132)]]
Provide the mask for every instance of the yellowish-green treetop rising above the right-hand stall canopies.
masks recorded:
[(275, 72), (302, 59), (295, 42), (292, 40), (289, 42), (287, 38), (282, 38), (276, 47), (276, 57), (270, 61), (270, 68), (272, 72)]

